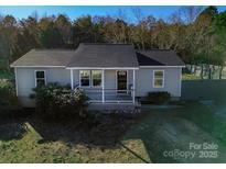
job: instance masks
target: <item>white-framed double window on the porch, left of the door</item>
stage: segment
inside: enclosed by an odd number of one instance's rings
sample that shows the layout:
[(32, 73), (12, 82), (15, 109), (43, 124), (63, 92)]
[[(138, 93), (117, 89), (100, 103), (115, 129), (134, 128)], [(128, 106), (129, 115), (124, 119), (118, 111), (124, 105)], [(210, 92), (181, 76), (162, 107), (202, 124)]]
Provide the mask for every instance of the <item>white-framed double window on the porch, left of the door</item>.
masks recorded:
[(101, 70), (80, 70), (80, 87), (100, 87)]

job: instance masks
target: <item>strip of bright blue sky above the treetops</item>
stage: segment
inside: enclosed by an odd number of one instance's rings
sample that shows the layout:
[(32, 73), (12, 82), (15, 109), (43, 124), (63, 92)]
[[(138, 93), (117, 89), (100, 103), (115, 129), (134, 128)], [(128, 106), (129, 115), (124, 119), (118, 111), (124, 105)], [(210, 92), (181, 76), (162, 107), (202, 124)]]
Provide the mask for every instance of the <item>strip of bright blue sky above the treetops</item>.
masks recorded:
[[(118, 11), (127, 13), (127, 20), (129, 22), (136, 22), (132, 15), (132, 8), (137, 7), (129, 7), (129, 5), (31, 5), (31, 7), (8, 7), (8, 5), (0, 5), (0, 14), (12, 14), (17, 19), (28, 18), (37, 12), (39, 16), (43, 15), (57, 15), (58, 13), (63, 13), (69, 16), (71, 20), (74, 20), (80, 15), (117, 15)], [(175, 12), (180, 5), (143, 5), (139, 7), (143, 15), (153, 15), (157, 19), (168, 19), (168, 16)], [(218, 11), (226, 10), (226, 5), (217, 7)]]

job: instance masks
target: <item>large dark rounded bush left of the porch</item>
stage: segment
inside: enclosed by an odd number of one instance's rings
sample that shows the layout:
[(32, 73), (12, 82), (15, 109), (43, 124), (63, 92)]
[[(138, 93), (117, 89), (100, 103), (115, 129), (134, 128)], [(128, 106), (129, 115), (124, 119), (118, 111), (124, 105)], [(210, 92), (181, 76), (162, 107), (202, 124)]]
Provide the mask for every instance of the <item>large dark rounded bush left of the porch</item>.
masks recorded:
[(68, 117), (86, 116), (88, 97), (82, 90), (71, 90), (68, 86), (49, 83), (33, 89), (36, 112), (41, 116)]

